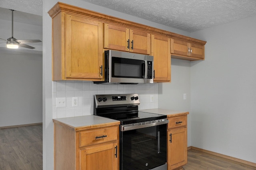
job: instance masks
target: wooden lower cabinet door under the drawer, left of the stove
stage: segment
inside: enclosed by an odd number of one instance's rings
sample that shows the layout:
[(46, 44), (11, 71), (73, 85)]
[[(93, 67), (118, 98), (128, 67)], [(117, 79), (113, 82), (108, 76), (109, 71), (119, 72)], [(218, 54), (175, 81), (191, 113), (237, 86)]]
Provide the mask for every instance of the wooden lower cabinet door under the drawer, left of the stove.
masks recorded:
[(118, 170), (117, 142), (80, 150), (80, 170)]

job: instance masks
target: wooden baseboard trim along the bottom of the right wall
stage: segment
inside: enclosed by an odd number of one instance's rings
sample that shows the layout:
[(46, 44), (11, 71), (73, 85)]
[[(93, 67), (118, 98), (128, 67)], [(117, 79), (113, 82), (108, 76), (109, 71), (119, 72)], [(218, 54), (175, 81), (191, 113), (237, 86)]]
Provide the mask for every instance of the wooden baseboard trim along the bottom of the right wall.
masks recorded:
[(215, 156), (220, 156), (222, 158), (226, 158), (226, 159), (229, 159), (229, 160), (233, 160), (233, 161), (236, 161), (236, 162), (240, 162), (242, 164), (246, 164), (246, 165), (249, 165), (249, 166), (253, 166), (253, 167), (256, 167), (256, 163), (254, 162), (249, 162), (247, 160), (242, 160), (242, 159), (239, 159), (239, 158), (234, 158), (232, 156), (227, 156), (227, 155), (224, 155), (224, 154), (219, 154), (217, 152), (212, 152), (210, 150), (205, 150), (205, 149), (201, 149), (201, 148), (196, 148), (194, 146), (189, 146), (188, 147), (188, 150), (190, 149), (194, 149), (194, 150), (198, 150), (198, 151), (201, 151), (201, 152), (205, 152), (205, 153), (208, 153), (208, 154), (212, 154), (212, 155), (215, 155)]

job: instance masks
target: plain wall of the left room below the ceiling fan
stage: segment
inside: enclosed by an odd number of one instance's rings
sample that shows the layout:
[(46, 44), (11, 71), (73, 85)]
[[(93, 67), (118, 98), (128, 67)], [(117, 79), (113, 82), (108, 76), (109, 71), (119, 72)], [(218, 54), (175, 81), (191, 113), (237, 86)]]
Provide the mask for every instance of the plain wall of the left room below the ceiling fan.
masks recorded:
[(42, 55), (4, 48), (0, 48), (0, 127), (41, 123)]

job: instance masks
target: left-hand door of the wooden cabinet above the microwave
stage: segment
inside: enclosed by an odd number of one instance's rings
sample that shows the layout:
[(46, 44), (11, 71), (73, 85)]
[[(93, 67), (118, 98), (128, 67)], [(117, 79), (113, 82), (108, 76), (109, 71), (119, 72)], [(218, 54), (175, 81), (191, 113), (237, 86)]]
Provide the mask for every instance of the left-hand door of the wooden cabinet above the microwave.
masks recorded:
[(129, 51), (129, 29), (104, 23), (104, 48)]

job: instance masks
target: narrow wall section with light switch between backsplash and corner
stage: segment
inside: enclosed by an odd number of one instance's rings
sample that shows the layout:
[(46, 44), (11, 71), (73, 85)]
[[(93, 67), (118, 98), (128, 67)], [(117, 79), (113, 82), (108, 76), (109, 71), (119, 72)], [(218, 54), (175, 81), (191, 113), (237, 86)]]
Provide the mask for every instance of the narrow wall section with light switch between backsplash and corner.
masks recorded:
[[(172, 59), (171, 62), (171, 82), (158, 84), (158, 107), (190, 112), (190, 61)], [(188, 146), (191, 146), (191, 113), (187, 127)]]

